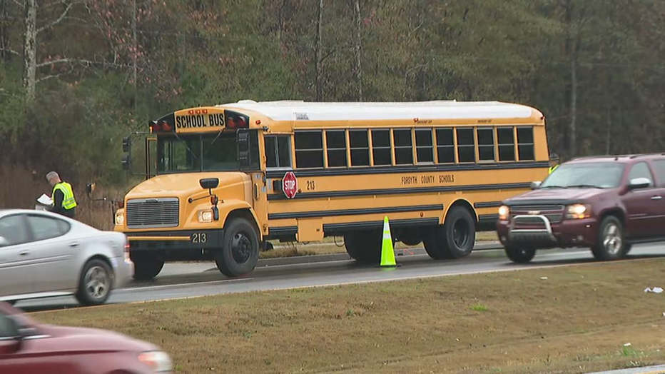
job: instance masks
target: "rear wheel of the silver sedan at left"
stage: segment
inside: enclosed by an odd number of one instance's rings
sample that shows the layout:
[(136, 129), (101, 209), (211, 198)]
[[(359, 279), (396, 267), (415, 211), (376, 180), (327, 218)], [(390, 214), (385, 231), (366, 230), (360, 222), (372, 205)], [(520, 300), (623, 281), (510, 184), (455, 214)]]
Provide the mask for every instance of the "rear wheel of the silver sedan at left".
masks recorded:
[(83, 305), (101, 305), (111, 296), (113, 271), (106, 261), (93, 258), (88, 261), (78, 279), (76, 300)]

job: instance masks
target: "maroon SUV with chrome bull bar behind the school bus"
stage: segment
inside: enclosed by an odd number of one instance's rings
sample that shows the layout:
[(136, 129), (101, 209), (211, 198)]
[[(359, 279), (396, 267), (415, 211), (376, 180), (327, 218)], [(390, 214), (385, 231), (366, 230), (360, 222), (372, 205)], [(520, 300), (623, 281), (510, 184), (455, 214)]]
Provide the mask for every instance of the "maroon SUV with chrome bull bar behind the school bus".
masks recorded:
[(532, 188), (499, 208), (497, 233), (514, 262), (557, 247), (615, 260), (634, 243), (665, 240), (665, 153), (576, 158)]

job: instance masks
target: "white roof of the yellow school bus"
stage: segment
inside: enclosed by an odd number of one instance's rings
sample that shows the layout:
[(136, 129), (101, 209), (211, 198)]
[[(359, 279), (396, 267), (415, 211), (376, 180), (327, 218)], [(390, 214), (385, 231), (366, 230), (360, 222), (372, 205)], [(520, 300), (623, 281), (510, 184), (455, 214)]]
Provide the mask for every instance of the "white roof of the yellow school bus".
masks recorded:
[(529, 118), (540, 115), (529, 106), (499, 101), (317, 103), (241, 100), (218, 107), (254, 111), (275, 121)]

